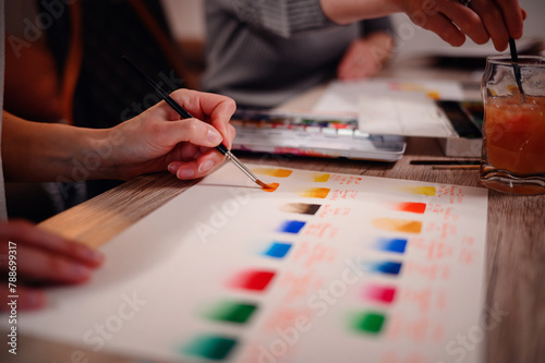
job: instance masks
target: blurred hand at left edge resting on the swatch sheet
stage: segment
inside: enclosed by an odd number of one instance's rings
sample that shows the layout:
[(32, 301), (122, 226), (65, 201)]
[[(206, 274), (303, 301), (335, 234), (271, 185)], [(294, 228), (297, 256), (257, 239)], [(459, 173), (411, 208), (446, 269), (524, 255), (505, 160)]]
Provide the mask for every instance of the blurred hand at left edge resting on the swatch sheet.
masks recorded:
[(17, 310), (43, 307), (44, 290), (32, 286), (85, 282), (102, 259), (100, 252), (40, 230), (31, 222), (1, 221), (0, 311), (10, 310), (8, 303), (13, 300)]

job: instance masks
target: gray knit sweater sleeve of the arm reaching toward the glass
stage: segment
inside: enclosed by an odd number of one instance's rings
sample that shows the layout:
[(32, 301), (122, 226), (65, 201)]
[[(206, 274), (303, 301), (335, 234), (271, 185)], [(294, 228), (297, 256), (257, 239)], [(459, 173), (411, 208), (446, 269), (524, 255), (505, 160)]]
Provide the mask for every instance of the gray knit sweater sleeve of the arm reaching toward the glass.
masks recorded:
[(246, 25), (281, 37), (334, 26), (319, 0), (208, 0)]

